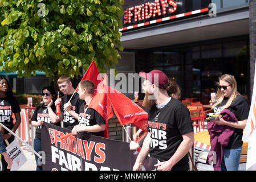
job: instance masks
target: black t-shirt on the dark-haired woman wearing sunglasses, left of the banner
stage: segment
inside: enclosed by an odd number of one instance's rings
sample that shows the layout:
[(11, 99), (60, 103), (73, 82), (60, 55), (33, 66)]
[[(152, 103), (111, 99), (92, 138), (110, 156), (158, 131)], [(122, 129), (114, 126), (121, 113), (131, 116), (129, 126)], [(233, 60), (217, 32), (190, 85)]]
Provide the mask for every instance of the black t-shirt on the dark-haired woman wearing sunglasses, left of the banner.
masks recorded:
[[(51, 106), (51, 109), (55, 113), (56, 107), (54, 104)], [(50, 116), (48, 114), (47, 105), (44, 105), (43, 103), (36, 106), (34, 114), (31, 117), (31, 121), (39, 121), (39, 120), (47, 123), (52, 123)], [(55, 123), (55, 125), (60, 126), (60, 122)], [(39, 139), (41, 139), (41, 130), (42, 130), (42, 125), (38, 126), (35, 131), (35, 135)]]

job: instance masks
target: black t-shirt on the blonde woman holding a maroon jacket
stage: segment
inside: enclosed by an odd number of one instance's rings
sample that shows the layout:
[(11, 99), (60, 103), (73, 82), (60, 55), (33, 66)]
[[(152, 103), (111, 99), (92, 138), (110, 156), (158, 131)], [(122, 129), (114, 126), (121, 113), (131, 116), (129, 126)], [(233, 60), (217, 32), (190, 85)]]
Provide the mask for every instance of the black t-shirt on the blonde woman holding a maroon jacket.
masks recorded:
[[(228, 98), (224, 97), (224, 100), (221, 102), (221, 104), (214, 107), (213, 112), (216, 114), (221, 113), (223, 109), (221, 109), (221, 106), (224, 106), (227, 103)], [(249, 104), (245, 97), (241, 96), (240, 94), (235, 97), (231, 105), (226, 108), (229, 109), (232, 113), (235, 114), (235, 117), (237, 118), (237, 121), (242, 121), (244, 119), (248, 118), (249, 115)], [(243, 145), (242, 141), (243, 137), (243, 129), (235, 129), (233, 135), (229, 138), (229, 143), (227, 144), (225, 149), (234, 149), (241, 147)]]

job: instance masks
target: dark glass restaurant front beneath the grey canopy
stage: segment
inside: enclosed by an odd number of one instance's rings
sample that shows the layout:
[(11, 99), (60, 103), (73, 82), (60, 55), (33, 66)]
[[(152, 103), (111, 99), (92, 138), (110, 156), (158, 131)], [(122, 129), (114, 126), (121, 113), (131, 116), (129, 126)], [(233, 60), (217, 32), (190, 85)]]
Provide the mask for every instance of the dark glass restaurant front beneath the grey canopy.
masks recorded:
[[(213, 42), (213, 43), (212, 43)], [(152, 50), (152, 49), (151, 49)], [(140, 60), (137, 62), (137, 58)], [(249, 94), (249, 37), (155, 48), (136, 53), (136, 72), (160, 69), (181, 86), (181, 97), (198, 98), (209, 104), (218, 77), (234, 75), (238, 92)]]

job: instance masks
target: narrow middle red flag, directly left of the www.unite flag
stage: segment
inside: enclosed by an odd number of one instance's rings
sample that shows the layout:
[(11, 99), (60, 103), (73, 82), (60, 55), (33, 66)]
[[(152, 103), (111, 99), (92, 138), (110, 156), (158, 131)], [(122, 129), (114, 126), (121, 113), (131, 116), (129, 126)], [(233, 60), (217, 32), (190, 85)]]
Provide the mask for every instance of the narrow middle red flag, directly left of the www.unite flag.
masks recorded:
[(106, 129), (104, 130), (104, 137), (108, 138), (108, 119), (113, 117), (113, 112), (111, 109), (110, 102), (108, 100), (107, 94), (104, 92), (104, 85), (107, 85), (107, 75), (105, 74), (104, 78), (98, 85), (97, 90), (95, 90), (94, 97), (88, 107), (96, 110), (105, 120)]

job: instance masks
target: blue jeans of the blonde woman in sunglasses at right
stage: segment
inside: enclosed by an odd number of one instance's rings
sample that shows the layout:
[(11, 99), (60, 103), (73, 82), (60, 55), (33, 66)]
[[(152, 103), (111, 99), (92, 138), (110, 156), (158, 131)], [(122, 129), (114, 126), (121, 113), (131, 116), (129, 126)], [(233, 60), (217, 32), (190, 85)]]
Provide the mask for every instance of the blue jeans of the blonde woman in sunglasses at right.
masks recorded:
[(221, 171), (238, 171), (242, 147), (224, 149)]

